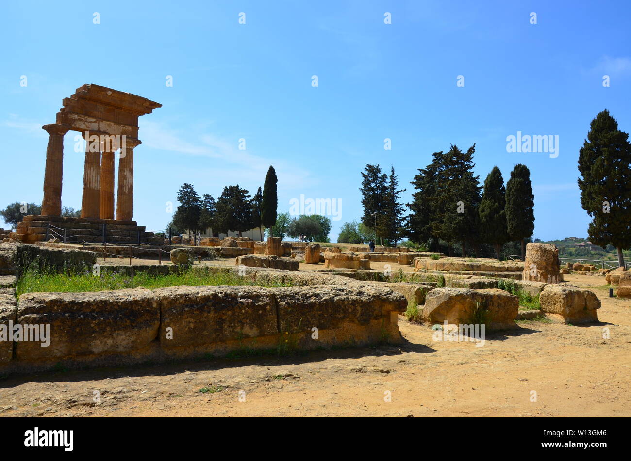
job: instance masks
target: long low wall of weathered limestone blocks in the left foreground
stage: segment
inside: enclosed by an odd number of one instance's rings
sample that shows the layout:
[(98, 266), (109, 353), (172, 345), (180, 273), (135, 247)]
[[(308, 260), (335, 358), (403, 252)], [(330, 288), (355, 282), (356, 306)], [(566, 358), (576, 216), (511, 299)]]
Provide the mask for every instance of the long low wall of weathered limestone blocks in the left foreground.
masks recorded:
[(18, 305), (0, 299), (0, 372), (396, 343), (407, 304), (389, 288), (351, 283), (25, 293)]

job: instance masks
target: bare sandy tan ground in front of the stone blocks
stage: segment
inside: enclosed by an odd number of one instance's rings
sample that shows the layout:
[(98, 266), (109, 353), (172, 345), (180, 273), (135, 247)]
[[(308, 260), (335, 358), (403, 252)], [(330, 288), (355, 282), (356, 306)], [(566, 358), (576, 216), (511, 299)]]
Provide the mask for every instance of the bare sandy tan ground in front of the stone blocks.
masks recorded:
[(631, 302), (566, 280), (596, 292), (601, 323), (521, 322), (476, 347), (399, 317), (399, 346), (10, 377), (0, 416), (631, 416)]

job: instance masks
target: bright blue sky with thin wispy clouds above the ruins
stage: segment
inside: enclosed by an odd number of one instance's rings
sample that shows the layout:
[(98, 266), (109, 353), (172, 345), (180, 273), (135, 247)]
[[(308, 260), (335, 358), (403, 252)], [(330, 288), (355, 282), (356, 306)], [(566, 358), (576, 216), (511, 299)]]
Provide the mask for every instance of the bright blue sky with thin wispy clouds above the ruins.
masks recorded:
[[(534, 237), (582, 237), (589, 217), (577, 158), (589, 122), (608, 108), (631, 130), (626, 1), (24, 1), (2, 9), (2, 207), (41, 202), (41, 126), (85, 83), (163, 105), (141, 117), (134, 155), (134, 219), (148, 230), (165, 227), (165, 203), (177, 206), (182, 183), (215, 198), (237, 183), (254, 193), (273, 164), (279, 211), (301, 194), (341, 199), (336, 241), (340, 225), (362, 215), (365, 164), (394, 165), (408, 202), (409, 182), (432, 152), (475, 142), (481, 181), (495, 165), (505, 180), (518, 162), (531, 170)], [(506, 137), (518, 131), (558, 135), (558, 157), (507, 152)], [(62, 204), (80, 208), (83, 152), (73, 136)]]

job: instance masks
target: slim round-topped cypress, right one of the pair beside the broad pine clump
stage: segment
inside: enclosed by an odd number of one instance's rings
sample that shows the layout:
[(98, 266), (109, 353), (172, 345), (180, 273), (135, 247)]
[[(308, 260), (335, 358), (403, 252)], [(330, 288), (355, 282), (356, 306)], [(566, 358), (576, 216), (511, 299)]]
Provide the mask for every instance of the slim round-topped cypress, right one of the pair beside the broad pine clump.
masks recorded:
[(534, 195), (530, 170), (516, 164), (506, 183), (506, 228), (511, 241), (521, 242), (521, 260), (526, 260), (526, 239), (534, 232)]

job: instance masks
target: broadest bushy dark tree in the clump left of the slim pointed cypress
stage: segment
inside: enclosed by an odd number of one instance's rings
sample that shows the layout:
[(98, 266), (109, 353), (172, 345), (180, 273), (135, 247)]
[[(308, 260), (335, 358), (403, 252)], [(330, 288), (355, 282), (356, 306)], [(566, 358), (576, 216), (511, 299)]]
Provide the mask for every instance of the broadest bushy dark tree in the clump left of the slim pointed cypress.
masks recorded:
[(247, 190), (236, 186), (223, 188), (217, 200), (215, 219), (218, 231), (227, 234), (228, 231), (239, 232), (252, 229), (252, 203)]

